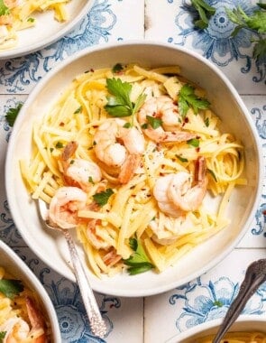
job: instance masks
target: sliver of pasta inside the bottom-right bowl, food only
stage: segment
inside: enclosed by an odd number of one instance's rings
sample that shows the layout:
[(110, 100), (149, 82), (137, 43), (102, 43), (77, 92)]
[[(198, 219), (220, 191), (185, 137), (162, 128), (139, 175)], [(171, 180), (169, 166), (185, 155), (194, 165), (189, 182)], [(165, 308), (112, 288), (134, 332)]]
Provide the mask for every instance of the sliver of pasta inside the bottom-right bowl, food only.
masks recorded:
[[(207, 336), (205, 338), (197, 338), (194, 343), (212, 343), (214, 336)], [(228, 332), (225, 337), (221, 339), (221, 343), (266, 343), (266, 334), (263, 332), (249, 331), (249, 332)]]

